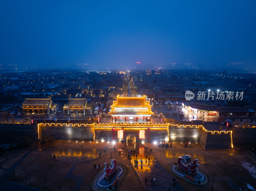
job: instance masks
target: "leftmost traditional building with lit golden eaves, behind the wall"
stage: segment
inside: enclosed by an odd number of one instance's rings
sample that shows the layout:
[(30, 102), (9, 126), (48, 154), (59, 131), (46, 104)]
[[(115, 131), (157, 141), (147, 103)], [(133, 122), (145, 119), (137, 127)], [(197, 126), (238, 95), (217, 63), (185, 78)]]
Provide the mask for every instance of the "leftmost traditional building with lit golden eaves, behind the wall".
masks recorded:
[(50, 98), (49, 99), (26, 99), (22, 104), (22, 113), (23, 114), (33, 114), (33, 113), (49, 114), (51, 104), (52, 104), (52, 100)]

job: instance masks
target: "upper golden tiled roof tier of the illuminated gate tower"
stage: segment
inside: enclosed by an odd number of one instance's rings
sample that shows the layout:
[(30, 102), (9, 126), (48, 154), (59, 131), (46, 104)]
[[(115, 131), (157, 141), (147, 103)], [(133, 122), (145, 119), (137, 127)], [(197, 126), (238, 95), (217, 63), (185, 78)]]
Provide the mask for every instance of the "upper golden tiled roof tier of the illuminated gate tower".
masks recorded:
[(116, 97), (116, 101), (111, 107), (152, 107), (146, 97)]

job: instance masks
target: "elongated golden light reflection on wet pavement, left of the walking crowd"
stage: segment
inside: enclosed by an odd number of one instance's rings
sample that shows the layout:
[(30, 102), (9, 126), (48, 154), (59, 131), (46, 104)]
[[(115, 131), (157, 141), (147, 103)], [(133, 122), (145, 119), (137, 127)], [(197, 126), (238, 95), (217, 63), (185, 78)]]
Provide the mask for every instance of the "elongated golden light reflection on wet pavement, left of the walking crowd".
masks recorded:
[[(103, 153), (102, 153), (103, 154)], [(99, 151), (96, 149), (90, 150), (53, 150), (51, 152), (52, 157), (55, 155), (57, 160), (62, 162), (74, 162), (74, 161), (87, 161), (99, 157)]]

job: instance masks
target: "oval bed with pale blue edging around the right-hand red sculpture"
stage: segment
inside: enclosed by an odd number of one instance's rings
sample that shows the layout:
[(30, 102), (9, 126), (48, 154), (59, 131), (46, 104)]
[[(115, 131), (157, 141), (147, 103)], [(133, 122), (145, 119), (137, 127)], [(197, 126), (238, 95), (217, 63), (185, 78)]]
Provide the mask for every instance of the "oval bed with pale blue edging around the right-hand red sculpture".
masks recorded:
[(170, 163), (168, 165), (168, 170), (180, 179), (197, 186), (205, 186), (210, 180), (208, 175), (203, 171), (197, 170), (195, 174), (192, 174), (190, 172), (183, 171), (177, 163)]

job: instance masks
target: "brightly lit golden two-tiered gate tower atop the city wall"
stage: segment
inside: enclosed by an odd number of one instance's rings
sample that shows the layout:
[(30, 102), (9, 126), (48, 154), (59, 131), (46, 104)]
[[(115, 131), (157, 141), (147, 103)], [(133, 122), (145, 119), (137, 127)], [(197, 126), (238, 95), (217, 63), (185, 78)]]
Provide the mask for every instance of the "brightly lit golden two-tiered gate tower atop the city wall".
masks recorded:
[(146, 101), (146, 96), (137, 97), (119, 97), (111, 106), (111, 111), (108, 114), (112, 116), (112, 122), (126, 123), (147, 123), (151, 122), (151, 105)]

